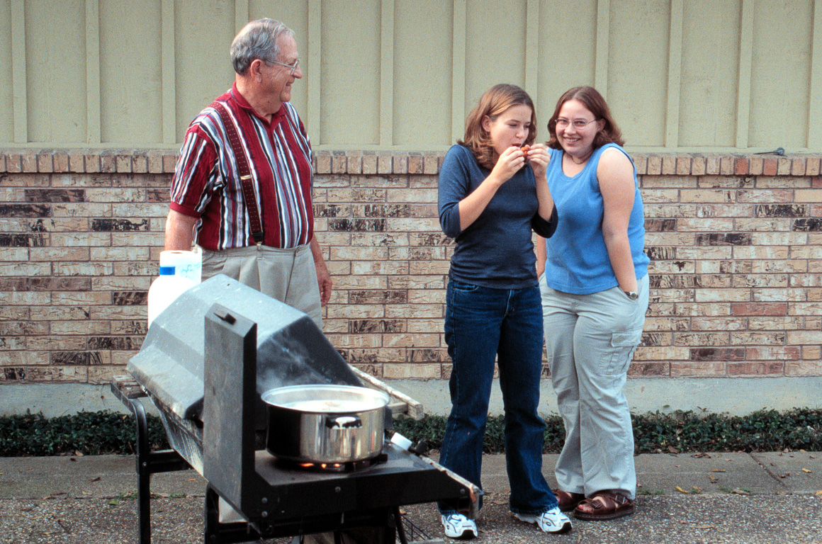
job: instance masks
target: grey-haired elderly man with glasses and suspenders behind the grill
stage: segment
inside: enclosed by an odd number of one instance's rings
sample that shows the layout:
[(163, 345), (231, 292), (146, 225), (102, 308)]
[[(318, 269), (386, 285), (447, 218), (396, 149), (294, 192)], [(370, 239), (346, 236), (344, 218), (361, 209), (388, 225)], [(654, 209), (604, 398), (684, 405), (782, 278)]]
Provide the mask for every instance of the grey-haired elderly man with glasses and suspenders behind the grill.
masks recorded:
[(231, 44), (232, 88), (188, 127), (171, 187), (167, 250), (203, 249), (226, 274), (311, 316), (331, 277), (314, 234), (312, 150), (289, 100), (302, 77), (293, 31), (248, 23)]

